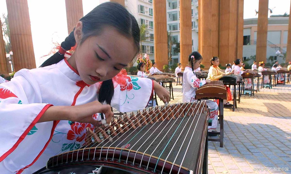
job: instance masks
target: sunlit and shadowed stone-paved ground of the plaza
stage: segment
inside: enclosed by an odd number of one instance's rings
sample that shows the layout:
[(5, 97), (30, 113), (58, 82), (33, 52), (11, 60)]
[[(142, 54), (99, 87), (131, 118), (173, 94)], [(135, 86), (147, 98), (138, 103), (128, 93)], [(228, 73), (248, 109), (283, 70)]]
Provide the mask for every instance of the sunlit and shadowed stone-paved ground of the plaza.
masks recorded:
[[(173, 87), (171, 103), (181, 102), (182, 87)], [(235, 112), (224, 109), (223, 144), (208, 144), (209, 174), (291, 173), (291, 84), (242, 96)]]

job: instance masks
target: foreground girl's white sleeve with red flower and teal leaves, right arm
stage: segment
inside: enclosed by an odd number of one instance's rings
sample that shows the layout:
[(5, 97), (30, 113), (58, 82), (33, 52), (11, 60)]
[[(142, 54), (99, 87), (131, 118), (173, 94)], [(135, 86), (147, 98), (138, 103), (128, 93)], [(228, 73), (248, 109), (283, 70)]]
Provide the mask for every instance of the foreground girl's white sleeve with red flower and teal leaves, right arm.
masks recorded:
[(120, 112), (131, 112), (145, 108), (153, 95), (153, 81), (149, 78), (132, 76), (125, 78), (125, 84), (120, 84), (114, 89), (111, 107)]

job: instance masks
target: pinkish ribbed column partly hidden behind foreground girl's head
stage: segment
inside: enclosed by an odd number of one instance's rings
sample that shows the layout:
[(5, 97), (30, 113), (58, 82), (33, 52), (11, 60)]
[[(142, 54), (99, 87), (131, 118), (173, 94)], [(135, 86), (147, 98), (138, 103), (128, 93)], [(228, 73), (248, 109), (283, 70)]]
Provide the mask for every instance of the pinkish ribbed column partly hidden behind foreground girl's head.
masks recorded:
[(70, 34), (77, 22), (83, 17), (83, 3), (82, 0), (65, 0), (68, 33)]

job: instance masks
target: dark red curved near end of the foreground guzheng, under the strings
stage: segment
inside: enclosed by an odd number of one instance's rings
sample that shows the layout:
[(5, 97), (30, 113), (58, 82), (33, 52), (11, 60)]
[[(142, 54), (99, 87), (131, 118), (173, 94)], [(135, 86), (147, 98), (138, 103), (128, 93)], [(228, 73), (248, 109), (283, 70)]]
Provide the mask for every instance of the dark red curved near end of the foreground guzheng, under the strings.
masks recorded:
[[(101, 159), (100, 160), (99, 160), (100, 149), (97, 148), (95, 151), (95, 147), (92, 147), (92, 148), (86, 148), (84, 150), (84, 160), (81, 160), (82, 155), (83, 155), (83, 149), (80, 149), (77, 152), (74, 151), (73, 159), (76, 159), (77, 155), (78, 155), (79, 160), (74, 160), (73, 162), (71, 161), (73, 151), (70, 151), (70, 152), (68, 152), (69, 153), (68, 154), (68, 159), (69, 159), (68, 163), (66, 163), (67, 153), (64, 153), (63, 155), (51, 157), (49, 159), (49, 161), (47, 162), (47, 168), (52, 168), (52, 167), (57, 167), (57, 166), (66, 167), (66, 166), (72, 166), (72, 165), (88, 165), (88, 164), (92, 165), (92, 164), (95, 164), (95, 165), (105, 165), (105, 166), (106, 165), (118, 166), (118, 168), (120, 168), (120, 166), (125, 166), (127, 171), (130, 171), (129, 169), (132, 168), (133, 169), (132, 171), (136, 171), (136, 169), (138, 169), (138, 170), (143, 171), (143, 172), (154, 173), (154, 172), (152, 172), (152, 170), (145, 170), (145, 168), (143, 166), (140, 168), (138, 167), (139, 163), (141, 162), (142, 153), (137, 152), (136, 157), (135, 157), (135, 164), (132, 165), (132, 162), (127, 162), (127, 164), (125, 164), (125, 161), (124, 161), (127, 159), (127, 155), (128, 155), (127, 149), (122, 150), (121, 158), (120, 158), (121, 161), (118, 162), (119, 157), (120, 157), (121, 148), (116, 148), (115, 153), (114, 153), (114, 147), (109, 148), (108, 155), (107, 155), (107, 150), (108, 150), (107, 148), (108, 147), (106, 147), (106, 148), (103, 147), (103, 149), (101, 151)], [(91, 150), (89, 151), (89, 149), (91, 149)], [(129, 161), (134, 159), (135, 152), (136, 151), (129, 152), (129, 157), (128, 157)], [(113, 153), (114, 153), (114, 160), (112, 160)], [(94, 154), (95, 154), (95, 159), (93, 159)], [(88, 155), (89, 155), (89, 160), (88, 160)], [(107, 155), (107, 160), (105, 160), (106, 155)], [(63, 161), (63, 163), (60, 163), (61, 165), (56, 165), (57, 161), (58, 161), (58, 163)], [(145, 154), (143, 156), (143, 162), (141, 164), (146, 166), (148, 164), (148, 161), (149, 161), (149, 155)], [(157, 163), (157, 157), (152, 156), (150, 159), (149, 168), (155, 168), (156, 163)], [(172, 164), (173, 163), (168, 162), (168, 161), (165, 163), (165, 167), (164, 167), (165, 173), (170, 172)], [(164, 160), (159, 159), (156, 170), (161, 171), (163, 168), (163, 165), (164, 165)], [(174, 164), (173, 169), (172, 169), (172, 173), (178, 173), (179, 167), (180, 167), (179, 165)], [(181, 170), (180, 170), (181, 174), (189, 174), (189, 172), (190, 171), (188, 168), (181, 167)]]

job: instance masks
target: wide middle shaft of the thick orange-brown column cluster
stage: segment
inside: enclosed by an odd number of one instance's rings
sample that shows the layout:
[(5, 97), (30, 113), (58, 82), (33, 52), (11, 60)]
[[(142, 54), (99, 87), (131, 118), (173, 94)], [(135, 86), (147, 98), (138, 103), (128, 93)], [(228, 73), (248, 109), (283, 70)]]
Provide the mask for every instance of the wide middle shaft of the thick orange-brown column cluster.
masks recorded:
[(225, 65), (237, 58), (237, 0), (220, 1), (219, 14), (219, 61)]

